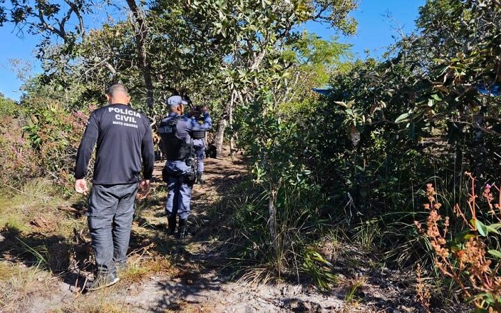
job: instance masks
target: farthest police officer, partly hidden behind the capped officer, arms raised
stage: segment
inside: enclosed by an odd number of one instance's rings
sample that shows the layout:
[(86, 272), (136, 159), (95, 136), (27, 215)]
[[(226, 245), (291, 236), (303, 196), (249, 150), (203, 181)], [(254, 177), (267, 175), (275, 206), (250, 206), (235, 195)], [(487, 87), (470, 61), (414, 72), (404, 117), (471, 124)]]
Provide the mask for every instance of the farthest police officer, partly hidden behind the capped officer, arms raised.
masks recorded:
[[(212, 128), (212, 119), (210, 116), (204, 117), (202, 111), (207, 111), (207, 106), (193, 106), (189, 113), (191, 119), (200, 125), (200, 130), (193, 131), (193, 147), (195, 148), (195, 155), (197, 158), (197, 182), (203, 184), (203, 161), (205, 159), (205, 133)], [(208, 128), (205, 127), (208, 125)]]

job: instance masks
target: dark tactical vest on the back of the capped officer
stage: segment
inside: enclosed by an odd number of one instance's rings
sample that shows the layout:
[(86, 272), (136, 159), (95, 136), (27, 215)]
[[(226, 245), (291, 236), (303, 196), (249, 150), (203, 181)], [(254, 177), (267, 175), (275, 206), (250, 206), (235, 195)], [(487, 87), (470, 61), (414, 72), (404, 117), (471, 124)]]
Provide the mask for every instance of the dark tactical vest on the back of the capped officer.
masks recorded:
[(168, 122), (162, 121), (159, 126), (159, 135), (162, 140), (162, 152), (168, 161), (182, 161), (191, 155), (191, 145), (177, 137), (177, 116)]

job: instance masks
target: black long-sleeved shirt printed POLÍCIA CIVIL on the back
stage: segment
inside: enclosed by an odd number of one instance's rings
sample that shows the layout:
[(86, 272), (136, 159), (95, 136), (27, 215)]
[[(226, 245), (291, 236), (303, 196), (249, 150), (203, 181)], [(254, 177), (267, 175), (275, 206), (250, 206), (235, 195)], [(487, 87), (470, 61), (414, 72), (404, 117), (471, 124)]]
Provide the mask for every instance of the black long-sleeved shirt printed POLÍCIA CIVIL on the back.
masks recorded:
[(148, 118), (125, 104), (93, 111), (77, 154), (76, 179), (84, 178), (97, 142), (94, 184), (129, 184), (153, 173), (152, 130)]

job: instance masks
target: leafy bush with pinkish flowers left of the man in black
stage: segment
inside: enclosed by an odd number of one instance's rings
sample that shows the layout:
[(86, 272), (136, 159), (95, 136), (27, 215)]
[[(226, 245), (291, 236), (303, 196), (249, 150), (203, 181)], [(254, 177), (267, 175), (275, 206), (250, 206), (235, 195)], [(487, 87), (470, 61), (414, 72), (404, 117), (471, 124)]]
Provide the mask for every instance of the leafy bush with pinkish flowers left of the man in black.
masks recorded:
[(74, 111), (51, 97), (29, 95), (20, 104), (2, 100), (0, 181), (22, 186), (44, 177), (58, 186), (72, 181), (74, 159), (88, 111)]

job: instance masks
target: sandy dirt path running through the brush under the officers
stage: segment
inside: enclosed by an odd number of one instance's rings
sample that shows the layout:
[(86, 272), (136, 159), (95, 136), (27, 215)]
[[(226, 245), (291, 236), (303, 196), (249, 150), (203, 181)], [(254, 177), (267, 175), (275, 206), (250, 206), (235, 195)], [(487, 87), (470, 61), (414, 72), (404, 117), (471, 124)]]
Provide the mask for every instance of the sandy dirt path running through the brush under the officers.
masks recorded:
[[(347, 303), (347, 285), (321, 294), (308, 284), (248, 284), (232, 280), (225, 268), (221, 194), (246, 172), (242, 161), (207, 159), (206, 184), (193, 190), (190, 239), (179, 242), (164, 234), (164, 184), (157, 163), (152, 195), (136, 209), (129, 267), (113, 287), (80, 294), (85, 271), (51, 278), (48, 289), (27, 297), (18, 312), (417, 312), (408, 291), (398, 284), (401, 273), (374, 271), (357, 263), (353, 277), (365, 275), (362, 287)], [(224, 211), (224, 210), (223, 210)], [(88, 249), (88, 242), (86, 243)], [(83, 252), (85, 255), (88, 251)], [(353, 252), (356, 255), (356, 252)], [(339, 265), (339, 264), (338, 264)], [(340, 272), (351, 270), (341, 268)], [(360, 274), (361, 273), (361, 274)], [(344, 275), (340, 274), (340, 277)], [(78, 279), (78, 280), (77, 280)], [(383, 285), (385, 284), (385, 285)], [(403, 287), (408, 289), (407, 287)], [(365, 298), (363, 305), (356, 300)], [(384, 310), (381, 311), (381, 308)]]

